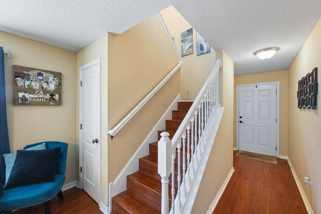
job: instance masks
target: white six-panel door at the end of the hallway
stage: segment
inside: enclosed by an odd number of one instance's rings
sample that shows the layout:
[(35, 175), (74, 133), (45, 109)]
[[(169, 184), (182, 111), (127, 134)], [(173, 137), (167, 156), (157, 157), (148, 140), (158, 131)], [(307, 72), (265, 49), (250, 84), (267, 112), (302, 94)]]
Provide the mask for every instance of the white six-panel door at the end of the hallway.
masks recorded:
[(276, 87), (238, 86), (238, 150), (277, 155)]

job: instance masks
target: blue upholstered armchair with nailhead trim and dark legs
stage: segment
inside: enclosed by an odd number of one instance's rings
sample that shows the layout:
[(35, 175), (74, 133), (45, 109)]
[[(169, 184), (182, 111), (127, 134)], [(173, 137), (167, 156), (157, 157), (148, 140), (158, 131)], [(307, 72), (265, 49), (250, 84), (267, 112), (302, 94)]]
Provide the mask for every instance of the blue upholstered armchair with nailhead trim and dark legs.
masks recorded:
[(45, 143), (46, 148), (61, 147), (55, 181), (28, 184), (5, 189), (0, 198), (0, 213), (10, 213), (13, 209), (21, 209), (34, 206), (45, 202), (45, 212), (50, 213), (50, 200), (58, 194), (60, 200), (63, 200), (61, 188), (65, 182), (66, 162), (68, 144), (57, 141), (47, 141), (27, 145), (24, 149)]

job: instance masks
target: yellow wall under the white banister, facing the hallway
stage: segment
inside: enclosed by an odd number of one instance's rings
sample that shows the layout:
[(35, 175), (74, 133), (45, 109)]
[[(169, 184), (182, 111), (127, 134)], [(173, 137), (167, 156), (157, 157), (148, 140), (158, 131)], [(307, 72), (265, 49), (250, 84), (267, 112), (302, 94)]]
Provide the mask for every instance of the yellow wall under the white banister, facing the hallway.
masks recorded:
[(233, 82), (234, 63), (223, 51), (222, 74), (225, 110), (205, 168), (191, 213), (207, 213), (216, 194), (233, 167)]

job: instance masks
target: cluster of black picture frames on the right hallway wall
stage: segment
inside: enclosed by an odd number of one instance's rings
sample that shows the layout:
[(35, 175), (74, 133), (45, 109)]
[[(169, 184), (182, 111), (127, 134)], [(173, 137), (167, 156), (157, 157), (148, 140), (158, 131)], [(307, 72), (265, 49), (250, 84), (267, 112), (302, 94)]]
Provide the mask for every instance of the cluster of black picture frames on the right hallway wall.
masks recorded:
[(297, 107), (315, 109), (317, 95), (317, 68), (297, 82)]

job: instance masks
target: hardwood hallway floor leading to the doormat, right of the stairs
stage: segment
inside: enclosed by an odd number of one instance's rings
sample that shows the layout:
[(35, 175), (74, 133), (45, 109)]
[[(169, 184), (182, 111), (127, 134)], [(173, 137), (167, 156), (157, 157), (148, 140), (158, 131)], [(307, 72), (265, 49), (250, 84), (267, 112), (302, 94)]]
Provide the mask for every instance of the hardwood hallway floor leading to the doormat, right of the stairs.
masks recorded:
[(307, 213), (287, 160), (277, 164), (235, 156), (234, 173), (213, 214)]

